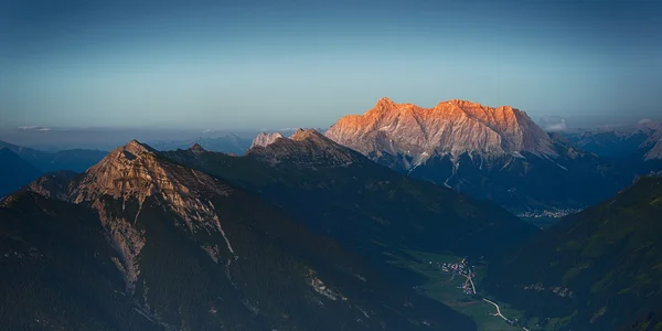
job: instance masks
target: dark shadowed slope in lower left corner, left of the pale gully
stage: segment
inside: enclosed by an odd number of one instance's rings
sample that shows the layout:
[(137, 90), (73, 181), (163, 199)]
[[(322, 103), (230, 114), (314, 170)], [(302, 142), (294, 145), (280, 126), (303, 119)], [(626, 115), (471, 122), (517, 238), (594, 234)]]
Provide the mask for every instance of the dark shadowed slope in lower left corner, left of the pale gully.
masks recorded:
[(22, 192), (0, 206), (3, 330), (166, 330), (124, 293), (92, 211)]

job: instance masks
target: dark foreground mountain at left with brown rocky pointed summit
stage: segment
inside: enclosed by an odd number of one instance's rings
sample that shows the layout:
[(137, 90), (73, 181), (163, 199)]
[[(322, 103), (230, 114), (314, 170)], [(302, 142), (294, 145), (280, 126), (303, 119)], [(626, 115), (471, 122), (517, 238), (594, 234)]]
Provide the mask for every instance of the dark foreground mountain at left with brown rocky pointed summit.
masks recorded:
[(476, 330), (279, 209), (137, 141), (63, 175), (2, 201), (7, 330)]

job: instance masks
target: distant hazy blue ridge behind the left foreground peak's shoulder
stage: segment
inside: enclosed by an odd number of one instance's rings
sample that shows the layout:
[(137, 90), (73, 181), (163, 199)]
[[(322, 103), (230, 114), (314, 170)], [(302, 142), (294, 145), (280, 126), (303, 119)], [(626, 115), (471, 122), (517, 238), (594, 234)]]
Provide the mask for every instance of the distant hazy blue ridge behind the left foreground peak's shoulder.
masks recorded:
[(31, 148), (0, 141), (0, 147), (8, 148), (42, 172), (70, 170), (83, 172), (102, 160), (107, 152), (90, 149), (68, 149), (57, 152), (45, 152)]

